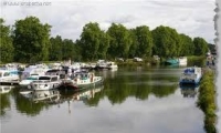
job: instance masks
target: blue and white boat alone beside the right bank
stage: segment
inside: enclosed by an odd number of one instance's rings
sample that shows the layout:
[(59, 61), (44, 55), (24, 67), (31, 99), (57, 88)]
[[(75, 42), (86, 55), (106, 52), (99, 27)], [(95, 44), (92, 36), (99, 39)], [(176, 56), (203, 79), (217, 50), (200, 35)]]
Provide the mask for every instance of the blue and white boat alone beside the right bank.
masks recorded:
[(199, 84), (202, 78), (202, 70), (198, 66), (187, 68), (180, 76), (180, 84)]

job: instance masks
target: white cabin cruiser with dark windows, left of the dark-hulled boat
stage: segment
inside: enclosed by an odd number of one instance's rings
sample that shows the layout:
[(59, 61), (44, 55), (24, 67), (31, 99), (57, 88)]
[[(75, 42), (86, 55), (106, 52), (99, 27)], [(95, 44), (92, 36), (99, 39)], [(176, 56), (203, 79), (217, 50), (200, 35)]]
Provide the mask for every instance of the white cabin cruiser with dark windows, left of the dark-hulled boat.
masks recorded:
[(51, 90), (57, 89), (61, 85), (62, 81), (59, 75), (41, 75), (38, 80), (33, 81), (30, 89), (33, 90)]

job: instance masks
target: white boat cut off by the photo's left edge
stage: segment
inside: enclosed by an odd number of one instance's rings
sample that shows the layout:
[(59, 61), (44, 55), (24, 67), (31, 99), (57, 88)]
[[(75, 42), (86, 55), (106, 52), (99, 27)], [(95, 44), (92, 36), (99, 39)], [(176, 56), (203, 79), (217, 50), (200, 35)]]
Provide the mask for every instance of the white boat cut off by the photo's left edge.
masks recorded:
[(19, 71), (17, 70), (0, 70), (0, 83), (1, 84), (10, 84), (10, 83), (19, 83)]

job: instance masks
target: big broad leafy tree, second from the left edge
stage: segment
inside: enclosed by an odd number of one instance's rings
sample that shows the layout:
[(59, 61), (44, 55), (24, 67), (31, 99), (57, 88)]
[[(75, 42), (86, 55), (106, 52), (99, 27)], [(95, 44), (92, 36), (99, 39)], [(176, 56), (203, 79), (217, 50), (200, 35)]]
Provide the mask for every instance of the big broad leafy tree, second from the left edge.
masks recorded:
[(51, 25), (42, 24), (35, 17), (27, 17), (17, 21), (14, 28), (17, 61), (36, 62), (49, 59)]

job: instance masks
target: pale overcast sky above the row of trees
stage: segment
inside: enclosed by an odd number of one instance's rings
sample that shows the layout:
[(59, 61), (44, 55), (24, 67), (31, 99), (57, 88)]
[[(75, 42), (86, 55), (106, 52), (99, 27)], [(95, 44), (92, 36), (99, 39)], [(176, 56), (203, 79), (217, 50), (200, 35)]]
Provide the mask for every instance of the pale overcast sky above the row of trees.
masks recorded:
[(21, 6), (22, 0), (13, 0), (18, 3), (12, 6), (15, 3), (11, 1), (1, 0), (0, 17), (6, 24), (34, 16), (52, 25), (52, 37), (59, 34), (73, 41), (80, 39), (83, 27), (90, 21), (98, 22), (103, 30), (112, 22), (128, 29), (148, 25), (150, 30), (162, 24), (191, 38), (204, 38), (210, 43), (214, 43), (215, 38), (215, 0), (31, 0), (49, 6)]

